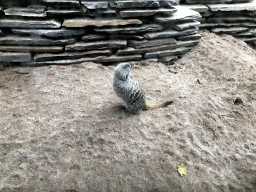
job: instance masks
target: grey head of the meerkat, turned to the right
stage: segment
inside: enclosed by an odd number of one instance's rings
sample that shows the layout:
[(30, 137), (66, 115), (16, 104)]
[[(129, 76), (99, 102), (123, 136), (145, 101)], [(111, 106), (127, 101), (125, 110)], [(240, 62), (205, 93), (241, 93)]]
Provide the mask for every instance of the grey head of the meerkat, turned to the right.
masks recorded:
[(133, 65), (133, 62), (118, 64), (114, 68), (114, 78), (126, 81), (131, 75)]

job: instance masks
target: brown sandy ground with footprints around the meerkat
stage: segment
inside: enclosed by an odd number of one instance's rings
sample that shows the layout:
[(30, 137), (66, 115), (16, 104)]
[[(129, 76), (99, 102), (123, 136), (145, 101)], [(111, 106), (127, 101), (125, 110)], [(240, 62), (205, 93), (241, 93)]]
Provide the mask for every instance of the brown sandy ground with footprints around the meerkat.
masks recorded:
[(115, 96), (113, 66), (16, 70), (0, 72), (0, 191), (256, 191), (246, 43), (205, 32), (175, 65), (137, 62), (148, 100), (175, 101), (139, 115)]

